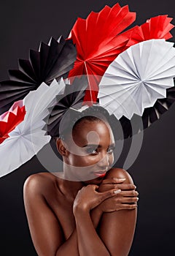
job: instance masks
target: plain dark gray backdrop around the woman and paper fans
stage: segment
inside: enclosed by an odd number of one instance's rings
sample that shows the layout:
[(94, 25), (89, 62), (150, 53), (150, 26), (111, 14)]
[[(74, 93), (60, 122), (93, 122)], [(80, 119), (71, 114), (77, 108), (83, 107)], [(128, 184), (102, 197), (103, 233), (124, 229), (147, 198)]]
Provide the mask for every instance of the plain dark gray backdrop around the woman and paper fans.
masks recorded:
[[(168, 14), (175, 18), (174, 0), (119, 2), (122, 6), (129, 4), (130, 10), (137, 12), (138, 25), (154, 15)], [(115, 3), (108, 0), (1, 1), (0, 80), (7, 79), (8, 69), (18, 67), (18, 58), (28, 58), (29, 48), (37, 49), (41, 40), (47, 42), (51, 36), (68, 36), (78, 16), (86, 18), (91, 10), (99, 11), (105, 4), (112, 7)], [(144, 132), (139, 157), (128, 170), (140, 193), (138, 222), (130, 256), (174, 255), (174, 131), (175, 105)], [(34, 157), (18, 170), (0, 178), (2, 256), (36, 255), (23, 208), (23, 183), (31, 173), (43, 170)]]

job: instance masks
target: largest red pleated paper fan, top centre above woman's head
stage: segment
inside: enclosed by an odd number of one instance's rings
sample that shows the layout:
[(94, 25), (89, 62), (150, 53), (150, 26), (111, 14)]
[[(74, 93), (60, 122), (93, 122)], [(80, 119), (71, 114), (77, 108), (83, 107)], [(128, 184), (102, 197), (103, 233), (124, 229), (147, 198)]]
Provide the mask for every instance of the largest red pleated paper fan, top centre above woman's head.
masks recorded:
[[(128, 6), (104, 7), (100, 12), (91, 12), (86, 20), (78, 18), (69, 38), (77, 47), (77, 60), (69, 77), (93, 75), (85, 102), (96, 102), (99, 78), (109, 64), (120, 54), (128, 42), (129, 33), (122, 33), (136, 19)], [(96, 75), (98, 77), (96, 77)]]

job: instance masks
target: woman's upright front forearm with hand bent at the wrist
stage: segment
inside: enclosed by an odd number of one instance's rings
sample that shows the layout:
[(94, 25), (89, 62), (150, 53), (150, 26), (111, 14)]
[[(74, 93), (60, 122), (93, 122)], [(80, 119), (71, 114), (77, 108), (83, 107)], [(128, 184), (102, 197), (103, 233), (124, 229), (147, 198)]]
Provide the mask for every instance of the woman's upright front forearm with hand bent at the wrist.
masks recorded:
[(106, 198), (114, 197), (120, 190), (110, 189), (96, 192), (98, 186), (88, 185), (79, 190), (74, 200), (74, 217), (77, 227), (77, 241), (80, 256), (109, 256), (109, 251), (98, 236), (90, 218), (90, 210), (96, 208)]

